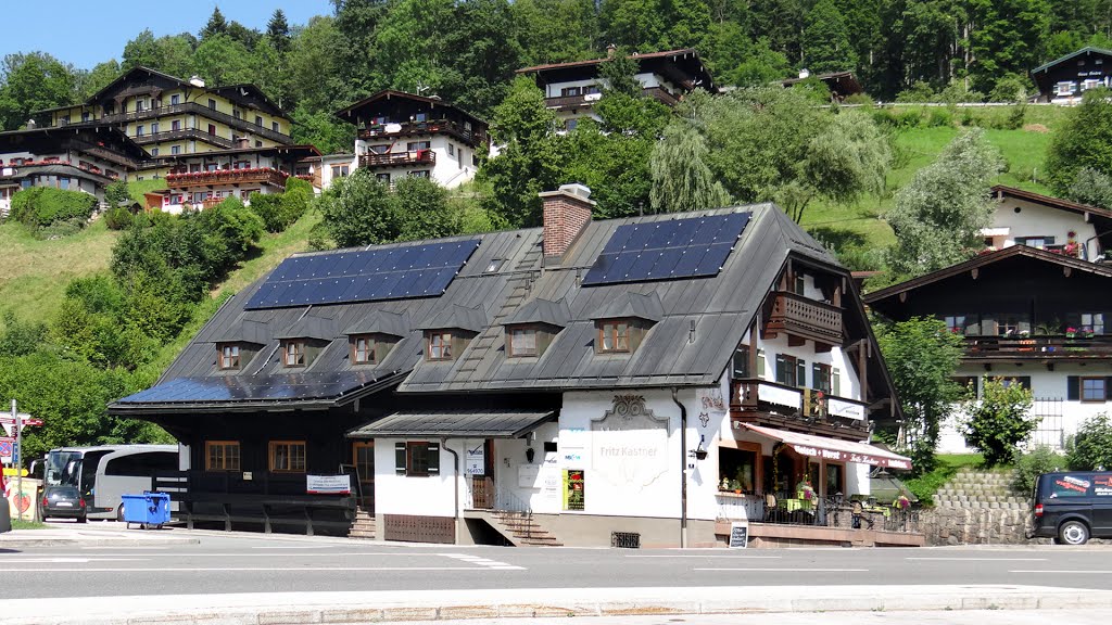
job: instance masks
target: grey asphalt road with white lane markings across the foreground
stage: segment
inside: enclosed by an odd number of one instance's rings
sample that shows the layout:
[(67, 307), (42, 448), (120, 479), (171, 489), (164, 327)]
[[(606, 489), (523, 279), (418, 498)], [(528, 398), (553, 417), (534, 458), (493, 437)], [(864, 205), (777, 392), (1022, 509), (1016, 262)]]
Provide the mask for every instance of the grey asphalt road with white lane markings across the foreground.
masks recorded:
[[(1112, 589), (1112, 548), (579, 549), (197, 533), (199, 544), (0, 550), (21, 597), (468, 588), (981, 585)], [(755, 591), (758, 592), (758, 591)]]

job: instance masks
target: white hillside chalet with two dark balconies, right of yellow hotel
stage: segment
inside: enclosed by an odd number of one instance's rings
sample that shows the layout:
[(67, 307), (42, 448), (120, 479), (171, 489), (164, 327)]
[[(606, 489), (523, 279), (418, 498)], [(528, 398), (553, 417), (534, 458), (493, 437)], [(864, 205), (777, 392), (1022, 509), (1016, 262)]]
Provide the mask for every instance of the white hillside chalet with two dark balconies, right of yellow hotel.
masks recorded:
[(487, 123), (439, 98), (379, 91), (336, 113), (358, 129), (350, 162), (330, 162), (329, 178), (364, 167), (388, 185), (403, 176), (458, 187), (475, 177)]

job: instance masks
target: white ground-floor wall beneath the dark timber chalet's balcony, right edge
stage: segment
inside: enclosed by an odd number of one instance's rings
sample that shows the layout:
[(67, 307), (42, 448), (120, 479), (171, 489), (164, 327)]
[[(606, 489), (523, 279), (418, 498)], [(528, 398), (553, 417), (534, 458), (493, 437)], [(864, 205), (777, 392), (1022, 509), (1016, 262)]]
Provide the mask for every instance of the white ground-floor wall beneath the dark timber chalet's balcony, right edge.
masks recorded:
[[(1005, 368), (1006, 367), (1006, 368)], [(1046, 444), (1060, 447), (1063, 437), (1078, 431), (1078, 427), (1085, 419), (1112, 410), (1112, 403), (1106, 401), (1071, 401), (1066, 399), (1068, 378), (1070, 376), (1104, 377), (1112, 376), (1112, 366), (1104, 363), (1090, 363), (1084, 366), (1080, 364), (1055, 364), (1054, 370), (1049, 371), (1045, 367), (1027, 365), (1024, 367), (999, 366), (992, 371), (985, 371), (981, 366), (959, 367), (957, 376), (1024, 376), (1031, 378), (1031, 393), (1035, 398), (1033, 410), (1044, 415), (1034, 437), (1036, 444)], [(983, 380), (977, 385), (983, 386)], [(1052, 400), (1052, 401), (1040, 401)], [(1061, 403), (1053, 401), (1061, 400)], [(1052, 414), (1061, 413), (1061, 417)], [(973, 449), (965, 445), (965, 439), (959, 430), (959, 423), (963, 414), (955, 409), (955, 414), (943, 424), (939, 437), (939, 452), (944, 454), (964, 454)]]

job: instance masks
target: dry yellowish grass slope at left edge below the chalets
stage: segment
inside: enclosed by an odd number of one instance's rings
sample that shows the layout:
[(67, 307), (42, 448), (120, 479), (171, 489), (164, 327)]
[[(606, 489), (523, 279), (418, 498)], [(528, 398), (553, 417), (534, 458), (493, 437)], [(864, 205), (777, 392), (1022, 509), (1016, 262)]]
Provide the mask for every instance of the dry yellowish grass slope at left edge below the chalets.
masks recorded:
[(0, 225), (0, 310), (49, 321), (71, 279), (108, 269), (118, 236), (103, 219), (48, 241), (36, 239), (22, 224)]

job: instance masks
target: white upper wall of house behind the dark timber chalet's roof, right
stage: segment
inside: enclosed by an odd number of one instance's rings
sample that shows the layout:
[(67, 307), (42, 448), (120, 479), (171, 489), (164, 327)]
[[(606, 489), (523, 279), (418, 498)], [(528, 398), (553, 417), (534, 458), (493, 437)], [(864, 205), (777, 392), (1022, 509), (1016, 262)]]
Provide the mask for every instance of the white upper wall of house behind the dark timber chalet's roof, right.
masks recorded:
[(1096, 235), (1096, 229), (1085, 221), (1083, 215), (1016, 198), (1004, 198), (997, 205), (992, 227), (1009, 229), (1007, 235), (993, 237), (993, 245), (997, 248), (1015, 245), (1016, 237), (1054, 237), (1054, 245), (1065, 245), (1070, 239), (1069, 232), (1073, 231), (1074, 240), (1079, 245), (1088, 242), (1085, 258), (1095, 258), (1100, 250), (1099, 242), (1095, 239), (1090, 240)]

